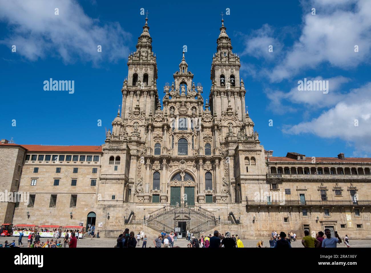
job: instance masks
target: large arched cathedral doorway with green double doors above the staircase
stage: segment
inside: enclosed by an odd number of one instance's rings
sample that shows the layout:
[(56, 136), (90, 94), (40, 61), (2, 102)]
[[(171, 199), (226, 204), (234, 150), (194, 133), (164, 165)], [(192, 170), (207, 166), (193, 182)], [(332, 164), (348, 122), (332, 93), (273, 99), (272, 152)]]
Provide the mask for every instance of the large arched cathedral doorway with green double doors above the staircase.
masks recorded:
[(170, 206), (194, 206), (195, 186), (193, 177), (186, 172), (178, 172), (170, 180)]

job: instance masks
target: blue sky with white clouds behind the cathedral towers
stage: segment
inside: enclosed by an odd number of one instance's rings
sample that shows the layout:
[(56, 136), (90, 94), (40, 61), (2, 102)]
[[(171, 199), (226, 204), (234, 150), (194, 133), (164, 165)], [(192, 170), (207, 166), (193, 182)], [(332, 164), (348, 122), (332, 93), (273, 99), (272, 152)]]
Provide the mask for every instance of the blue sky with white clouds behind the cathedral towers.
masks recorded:
[[(219, 14), (230, 9), (224, 24), (265, 149), (274, 156), (371, 156), (370, 2), (0, 0), (0, 137), (19, 144), (104, 143), (121, 104), (128, 53), (145, 22), (141, 8), (149, 12), (160, 97), (187, 45), (189, 69), (207, 98)], [(75, 92), (44, 91), (49, 78), (74, 80)], [(328, 80), (329, 92), (298, 91), (304, 78)]]

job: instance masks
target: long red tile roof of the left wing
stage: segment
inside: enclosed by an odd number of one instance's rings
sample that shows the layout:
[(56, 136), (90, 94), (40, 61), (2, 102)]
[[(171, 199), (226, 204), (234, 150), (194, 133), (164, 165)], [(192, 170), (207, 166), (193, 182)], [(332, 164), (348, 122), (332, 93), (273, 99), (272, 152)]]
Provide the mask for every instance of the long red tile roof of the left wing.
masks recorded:
[(0, 143), (0, 146), (23, 147), (29, 152), (86, 152), (101, 153), (101, 146), (53, 146), (53, 145), (23, 145), (15, 143)]

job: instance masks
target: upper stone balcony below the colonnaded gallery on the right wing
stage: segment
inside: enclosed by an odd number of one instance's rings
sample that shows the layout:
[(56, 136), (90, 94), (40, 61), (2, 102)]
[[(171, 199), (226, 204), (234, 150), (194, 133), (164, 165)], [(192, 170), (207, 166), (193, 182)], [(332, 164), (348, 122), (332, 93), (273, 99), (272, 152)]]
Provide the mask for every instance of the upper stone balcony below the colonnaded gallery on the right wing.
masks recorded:
[(371, 180), (371, 175), (315, 175), (315, 174), (286, 174), (267, 173), (267, 179), (292, 180)]

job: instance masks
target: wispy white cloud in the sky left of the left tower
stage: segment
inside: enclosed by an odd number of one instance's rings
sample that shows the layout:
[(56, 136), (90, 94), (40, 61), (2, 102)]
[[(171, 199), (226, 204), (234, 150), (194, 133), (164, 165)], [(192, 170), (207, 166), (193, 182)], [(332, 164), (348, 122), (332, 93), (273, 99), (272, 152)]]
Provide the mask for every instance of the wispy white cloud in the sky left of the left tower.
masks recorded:
[[(0, 20), (10, 30), (1, 43), (16, 45), (17, 53), (31, 61), (56, 54), (65, 63), (79, 57), (97, 64), (114, 62), (129, 53), (125, 43), (131, 35), (119, 23), (103, 24), (90, 18), (74, 0), (0, 0)], [(102, 52), (97, 51), (98, 45)]]

